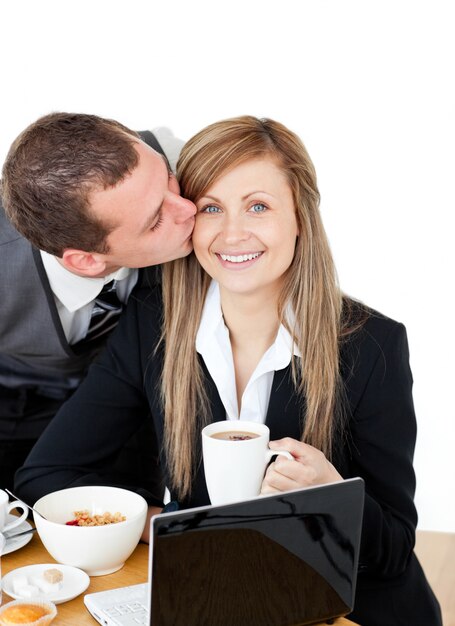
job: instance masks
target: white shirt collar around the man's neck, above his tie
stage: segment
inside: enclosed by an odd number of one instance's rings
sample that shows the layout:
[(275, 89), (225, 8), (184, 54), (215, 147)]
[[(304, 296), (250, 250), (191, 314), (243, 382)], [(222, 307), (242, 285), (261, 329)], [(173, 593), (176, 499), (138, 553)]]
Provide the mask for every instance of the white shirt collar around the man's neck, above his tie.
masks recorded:
[(92, 302), (106, 283), (111, 280), (122, 280), (131, 271), (122, 267), (102, 278), (78, 276), (67, 270), (54, 255), (43, 250), (40, 250), (40, 254), (53, 294), (71, 312)]

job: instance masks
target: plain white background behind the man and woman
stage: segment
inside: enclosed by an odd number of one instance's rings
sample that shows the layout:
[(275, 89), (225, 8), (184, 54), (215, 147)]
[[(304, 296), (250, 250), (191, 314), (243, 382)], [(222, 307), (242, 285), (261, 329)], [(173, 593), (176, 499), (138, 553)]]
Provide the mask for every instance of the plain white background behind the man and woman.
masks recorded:
[[(1, 3), (0, 163), (55, 110), (188, 139), (275, 118), (316, 165), (344, 290), (405, 323), (419, 527), (455, 530), (455, 20), (442, 0)], [(1, 270), (0, 270), (1, 271)]]

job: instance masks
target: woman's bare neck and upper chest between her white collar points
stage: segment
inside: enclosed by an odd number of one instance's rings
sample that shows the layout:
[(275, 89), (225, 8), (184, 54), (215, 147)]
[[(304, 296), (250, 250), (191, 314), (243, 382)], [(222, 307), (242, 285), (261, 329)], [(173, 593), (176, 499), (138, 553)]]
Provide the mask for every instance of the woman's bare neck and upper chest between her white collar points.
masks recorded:
[(276, 338), (279, 328), (277, 297), (226, 294), (221, 290), (221, 308), (229, 329), (234, 359), (237, 404), (257, 364)]

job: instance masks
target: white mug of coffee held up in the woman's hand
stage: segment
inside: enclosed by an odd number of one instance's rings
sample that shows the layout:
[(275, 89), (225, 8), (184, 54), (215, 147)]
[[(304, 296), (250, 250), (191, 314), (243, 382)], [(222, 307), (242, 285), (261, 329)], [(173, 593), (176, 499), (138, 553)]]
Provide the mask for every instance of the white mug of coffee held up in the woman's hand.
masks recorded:
[[(251, 439), (217, 439), (219, 433), (250, 433)], [(205, 481), (212, 504), (226, 504), (258, 496), (265, 470), (277, 454), (293, 459), (284, 450), (270, 450), (270, 430), (265, 424), (243, 420), (215, 422), (202, 430)]]

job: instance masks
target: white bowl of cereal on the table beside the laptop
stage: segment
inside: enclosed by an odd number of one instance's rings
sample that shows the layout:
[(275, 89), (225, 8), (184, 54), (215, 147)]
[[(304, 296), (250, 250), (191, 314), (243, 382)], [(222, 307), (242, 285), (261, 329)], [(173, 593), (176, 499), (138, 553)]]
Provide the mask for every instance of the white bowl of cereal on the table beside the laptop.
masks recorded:
[[(133, 491), (117, 487), (72, 487), (54, 491), (35, 502), (36, 529), (49, 554), (63, 565), (79, 567), (89, 576), (111, 574), (133, 552), (144, 530), (147, 502)], [(124, 522), (105, 526), (67, 526), (74, 512), (90, 515), (120, 512)]]

